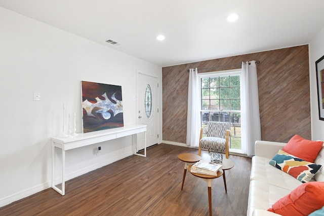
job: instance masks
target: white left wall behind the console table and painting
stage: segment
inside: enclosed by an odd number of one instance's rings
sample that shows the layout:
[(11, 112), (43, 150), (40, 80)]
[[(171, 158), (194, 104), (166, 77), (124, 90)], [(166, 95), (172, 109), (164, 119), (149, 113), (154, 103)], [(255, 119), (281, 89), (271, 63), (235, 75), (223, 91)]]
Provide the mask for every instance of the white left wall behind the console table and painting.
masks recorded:
[[(82, 131), (80, 81), (120, 85), (124, 124), (135, 124), (137, 70), (158, 77), (162, 86), (160, 66), (0, 7), (0, 206), (50, 187), (50, 138), (62, 130), (63, 103)], [(41, 92), (41, 101), (33, 101), (33, 91)], [(162, 110), (161, 88), (158, 94)], [(68, 178), (131, 155), (131, 140), (68, 151)]]

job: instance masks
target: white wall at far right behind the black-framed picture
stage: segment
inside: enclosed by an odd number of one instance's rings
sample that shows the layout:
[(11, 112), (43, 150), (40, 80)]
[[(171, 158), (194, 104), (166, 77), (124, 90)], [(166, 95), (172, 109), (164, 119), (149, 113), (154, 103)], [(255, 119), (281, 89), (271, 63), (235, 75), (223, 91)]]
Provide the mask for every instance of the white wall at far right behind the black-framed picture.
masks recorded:
[(315, 61), (324, 55), (324, 28), (309, 44), (311, 133), (313, 140), (324, 140), (324, 121), (319, 120)]

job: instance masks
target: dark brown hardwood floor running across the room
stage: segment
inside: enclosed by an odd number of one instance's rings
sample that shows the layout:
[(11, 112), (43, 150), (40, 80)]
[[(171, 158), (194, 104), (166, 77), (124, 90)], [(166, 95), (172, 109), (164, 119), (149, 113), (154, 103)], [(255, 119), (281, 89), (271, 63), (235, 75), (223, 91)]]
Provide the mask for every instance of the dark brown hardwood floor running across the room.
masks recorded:
[[(209, 215), (207, 183), (189, 172), (178, 154), (198, 150), (160, 144), (147, 157), (130, 156), (78, 176), (53, 189), (0, 208), (0, 215)], [(210, 160), (208, 152), (203, 159)], [(246, 215), (251, 158), (230, 155), (235, 166), (212, 183), (213, 215)]]

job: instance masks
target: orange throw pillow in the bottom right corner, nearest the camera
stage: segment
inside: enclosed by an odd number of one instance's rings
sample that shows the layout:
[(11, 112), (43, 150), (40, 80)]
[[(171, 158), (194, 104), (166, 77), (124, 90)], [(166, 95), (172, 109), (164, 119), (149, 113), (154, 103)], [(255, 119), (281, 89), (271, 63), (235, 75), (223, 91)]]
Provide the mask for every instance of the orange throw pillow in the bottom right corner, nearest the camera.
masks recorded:
[(280, 215), (308, 215), (324, 206), (324, 182), (308, 182), (276, 201), (268, 211)]

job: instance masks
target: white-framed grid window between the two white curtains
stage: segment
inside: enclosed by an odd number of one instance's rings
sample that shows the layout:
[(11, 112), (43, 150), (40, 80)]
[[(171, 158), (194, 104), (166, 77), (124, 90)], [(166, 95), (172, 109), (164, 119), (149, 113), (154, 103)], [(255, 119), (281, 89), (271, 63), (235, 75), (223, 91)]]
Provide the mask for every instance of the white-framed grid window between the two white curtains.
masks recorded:
[(240, 70), (198, 74), (201, 127), (209, 121), (230, 122), (231, 151), (241, 150)]

